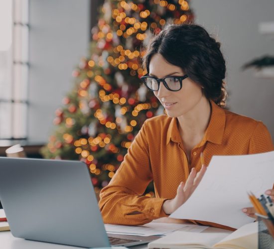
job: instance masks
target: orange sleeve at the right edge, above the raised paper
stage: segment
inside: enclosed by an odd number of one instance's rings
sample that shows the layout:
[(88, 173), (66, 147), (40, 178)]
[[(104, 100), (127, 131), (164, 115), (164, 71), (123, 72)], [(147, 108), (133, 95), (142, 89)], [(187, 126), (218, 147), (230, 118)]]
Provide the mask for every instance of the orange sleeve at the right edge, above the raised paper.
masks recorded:
[(258, 122), (249, 143), (249, 154), (263, 153), (274, 150), (268, 128), (263, 122)]

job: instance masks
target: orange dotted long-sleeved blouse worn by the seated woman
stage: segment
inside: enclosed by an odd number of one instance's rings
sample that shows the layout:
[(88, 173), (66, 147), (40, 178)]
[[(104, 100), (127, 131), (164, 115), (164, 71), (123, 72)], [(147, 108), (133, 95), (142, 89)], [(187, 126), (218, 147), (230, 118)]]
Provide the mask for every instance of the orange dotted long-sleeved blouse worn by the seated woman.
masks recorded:
[[(271, 135), (262, 122), (210, 103), (209, 125), (202, 141), (191, 150), (189, 162), (176, 118), (161, 115), (144, 122), (121, 166), (100, 193), (104, 223), (141, 225), (167, 216), (162, 210), (163, 202), (175, 197), (179, 183), (186, 181), (191, 168), (200, 170), (201, 151), (208, 165), (213, 155), (274, 150)], [(152, 180), (156, 197), (142, 196)]]

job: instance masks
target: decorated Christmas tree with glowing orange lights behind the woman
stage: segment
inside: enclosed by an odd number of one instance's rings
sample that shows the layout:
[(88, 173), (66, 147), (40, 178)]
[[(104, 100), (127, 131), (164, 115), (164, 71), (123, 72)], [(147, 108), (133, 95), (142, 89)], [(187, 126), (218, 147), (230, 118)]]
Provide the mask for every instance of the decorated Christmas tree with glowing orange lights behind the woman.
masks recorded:
[(124, 159), (147, 118), (164, 113), (141, 85), (141, 57), (168, 23), (191, 22), (185, 0), (106, 0), (92, 28), (90, 54), (74, 70), (73, 90), (56, 110), (45, 158), (84, 161), (99, 191)]

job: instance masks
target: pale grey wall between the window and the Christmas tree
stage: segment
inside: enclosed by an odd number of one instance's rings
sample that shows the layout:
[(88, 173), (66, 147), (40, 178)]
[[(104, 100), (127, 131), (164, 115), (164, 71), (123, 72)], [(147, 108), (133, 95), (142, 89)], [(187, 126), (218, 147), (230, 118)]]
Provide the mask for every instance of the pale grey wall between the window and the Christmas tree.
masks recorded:
[(29, 0), (31, 142), (46, 142), (55, 110), (73, 86), (74, 67), (89, 44), (90, 0)]

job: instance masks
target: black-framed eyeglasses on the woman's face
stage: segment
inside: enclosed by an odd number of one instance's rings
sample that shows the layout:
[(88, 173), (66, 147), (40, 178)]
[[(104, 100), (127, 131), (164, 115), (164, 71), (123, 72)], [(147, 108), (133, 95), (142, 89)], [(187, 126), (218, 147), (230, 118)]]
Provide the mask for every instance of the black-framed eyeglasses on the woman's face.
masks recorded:
[(186, 74), (184, 76), (167, 76), (162, 79), (157, 79), (156, 77), (146, 74), (140, 79), (143, 84), (151, 91), (158, 91), (160, 87), (160, 82), (162, 81), (166, 89), (176, 92), (181, 90), (182, 81), (187, 77), (188, 75)]

